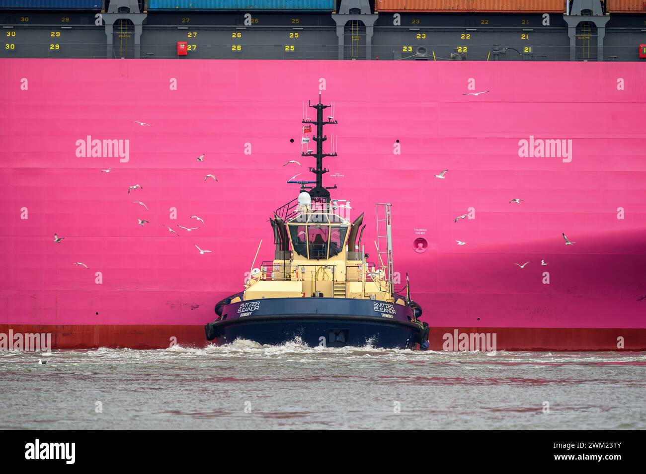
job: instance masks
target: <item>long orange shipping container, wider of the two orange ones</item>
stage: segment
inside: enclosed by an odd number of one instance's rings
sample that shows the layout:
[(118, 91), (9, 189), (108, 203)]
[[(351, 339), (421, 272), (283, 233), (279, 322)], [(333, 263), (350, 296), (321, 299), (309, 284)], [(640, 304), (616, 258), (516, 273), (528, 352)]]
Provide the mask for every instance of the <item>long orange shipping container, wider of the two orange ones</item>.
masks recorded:
[(379, 12), (552, 13), (565, 12), (565, 0), (375, 0), (375, 10)]

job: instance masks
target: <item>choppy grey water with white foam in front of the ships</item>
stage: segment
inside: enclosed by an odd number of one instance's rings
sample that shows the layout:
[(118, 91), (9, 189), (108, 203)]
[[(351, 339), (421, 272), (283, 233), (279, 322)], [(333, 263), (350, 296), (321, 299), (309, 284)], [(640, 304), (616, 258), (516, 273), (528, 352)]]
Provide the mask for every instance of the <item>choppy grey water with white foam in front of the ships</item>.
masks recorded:
[(644, 429), (645, 387), (646, 353), (2, 352), (0, 428)]

